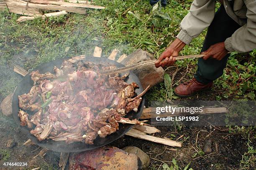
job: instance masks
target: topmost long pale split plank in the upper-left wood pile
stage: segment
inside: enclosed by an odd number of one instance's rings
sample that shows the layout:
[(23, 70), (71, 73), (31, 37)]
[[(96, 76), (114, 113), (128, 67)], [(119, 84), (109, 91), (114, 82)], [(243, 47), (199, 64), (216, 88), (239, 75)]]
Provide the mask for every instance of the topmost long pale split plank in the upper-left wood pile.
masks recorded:
[(45, 4), (45, 5), (60, 5), (63, 7), (80, 7), (80, 8), (93, 8), (93, 9), (105, 9), (105, 7), (97, 6), (97, 5), (90, 5), (90, 4), (79, 4), (79, 3), (67, 3), (67, 2), (60, 2), (60, 1), (52, 1), (52, 0), (23, 0), (29, 1), (28, 4)]

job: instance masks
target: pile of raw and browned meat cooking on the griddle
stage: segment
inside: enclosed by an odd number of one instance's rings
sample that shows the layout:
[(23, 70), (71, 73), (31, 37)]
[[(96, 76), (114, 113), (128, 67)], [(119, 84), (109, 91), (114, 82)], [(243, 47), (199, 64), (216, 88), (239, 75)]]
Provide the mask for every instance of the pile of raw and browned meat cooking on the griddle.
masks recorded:
[(142, 94), (135, 96), (136, 83), (124, 76), (100, 75), (100, 70), (115, 69), (109, 64), (65, 60), (61, 68), (31, 73), (34, 86), (18, 96), (20, 125), (31, 128), (39, 141), (85, 142), (93, 144), (99, 135), (106, 137), (118, 130), (118, 122), (143, 124), (124, 118), (137, 112)]

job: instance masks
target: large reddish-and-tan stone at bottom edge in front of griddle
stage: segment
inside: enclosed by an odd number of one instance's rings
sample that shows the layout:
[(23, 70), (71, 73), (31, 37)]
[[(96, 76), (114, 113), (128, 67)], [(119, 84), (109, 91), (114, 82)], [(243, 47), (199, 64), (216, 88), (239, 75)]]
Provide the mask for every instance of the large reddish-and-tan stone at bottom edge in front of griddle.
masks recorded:
[(69, 170), (138, 170), (141, 161), (134, 154), (117, 147), (100, 147), (95, 150), (73, 153), (69, 157)]

